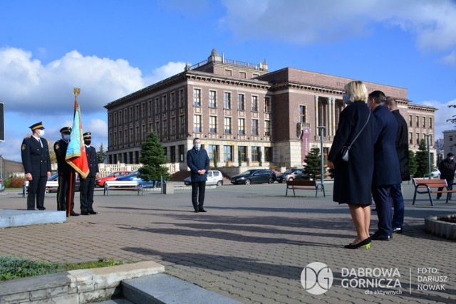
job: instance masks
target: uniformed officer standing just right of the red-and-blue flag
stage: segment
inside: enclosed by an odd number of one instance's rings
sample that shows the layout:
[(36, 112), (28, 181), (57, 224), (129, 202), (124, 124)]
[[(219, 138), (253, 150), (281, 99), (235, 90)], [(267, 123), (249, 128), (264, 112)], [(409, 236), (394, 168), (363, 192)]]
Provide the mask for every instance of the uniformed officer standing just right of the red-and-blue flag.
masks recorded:
[(86, 145), (89, 173), (85, 179), (81, 177), (81, 192), (79, 193), (81, 201), (81, 214), (98, 214), (98, 212), (93, 210), (93, 191), (95, 189), (95, 179), (98, 179), (98, 176), (100, 174), (98, 171), (97, 152), (95, 151), (94, 147), (90, 146), (90, 143), (92, 142), (92, 134), (90, 132), (86, 132), (83, 134), (83, 137), (84, 145)]

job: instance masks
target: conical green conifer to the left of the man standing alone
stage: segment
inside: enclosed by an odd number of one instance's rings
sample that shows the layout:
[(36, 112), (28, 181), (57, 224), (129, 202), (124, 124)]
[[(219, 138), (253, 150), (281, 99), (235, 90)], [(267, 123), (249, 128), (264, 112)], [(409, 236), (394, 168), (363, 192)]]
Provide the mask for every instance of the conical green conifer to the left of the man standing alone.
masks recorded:
[(138, 170), (140, 178), (146, 181), (159, 180), (160, 177), (170, 178), (168, 168), (162, 167), (162, 164), (167, 163), (167, 157), (155, 132), (148, 133), (145, 142), (142, 143), (140, 162), (142, 163), (142, 167)]

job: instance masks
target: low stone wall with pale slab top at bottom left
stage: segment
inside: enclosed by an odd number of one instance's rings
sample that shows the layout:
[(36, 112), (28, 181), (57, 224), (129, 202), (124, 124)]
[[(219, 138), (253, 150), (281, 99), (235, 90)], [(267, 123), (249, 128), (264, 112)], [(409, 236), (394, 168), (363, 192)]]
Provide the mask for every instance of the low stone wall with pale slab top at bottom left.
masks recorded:
[(20, 278), (0, 283), (0, 303), (79, 304), (121, 293), (120, 282), (165, 271), (152, 261)]

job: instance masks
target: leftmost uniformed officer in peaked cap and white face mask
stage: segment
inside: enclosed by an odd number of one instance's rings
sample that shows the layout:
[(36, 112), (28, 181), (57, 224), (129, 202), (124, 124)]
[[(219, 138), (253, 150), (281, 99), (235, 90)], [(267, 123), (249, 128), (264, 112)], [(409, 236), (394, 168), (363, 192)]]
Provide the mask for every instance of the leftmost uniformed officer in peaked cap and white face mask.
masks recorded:
[(46, 182), (51, 177), (51, 157), (48, 142), (43, 138), (43, 122), (30, 126), (31, 137), (24, 138), (21, 145), (21, 157), (26, 179), (28, 180), (27, 210), (45, 210), (44, 194)]

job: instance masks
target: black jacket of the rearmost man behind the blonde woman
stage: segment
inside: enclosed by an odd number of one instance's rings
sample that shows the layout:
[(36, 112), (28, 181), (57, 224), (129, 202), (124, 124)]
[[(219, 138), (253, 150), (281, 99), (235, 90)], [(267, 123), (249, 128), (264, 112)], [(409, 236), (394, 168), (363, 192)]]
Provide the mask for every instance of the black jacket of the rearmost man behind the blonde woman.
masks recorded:
[(399, 110), (392, 111), (398, 121), (398, 135), (396, 137), (396, 151), (399, 157), (400, 178), (403, 181), (410, 180), (410, 169), (408, 169), (408, 127), (404, 117)]

